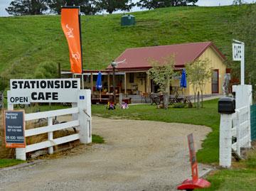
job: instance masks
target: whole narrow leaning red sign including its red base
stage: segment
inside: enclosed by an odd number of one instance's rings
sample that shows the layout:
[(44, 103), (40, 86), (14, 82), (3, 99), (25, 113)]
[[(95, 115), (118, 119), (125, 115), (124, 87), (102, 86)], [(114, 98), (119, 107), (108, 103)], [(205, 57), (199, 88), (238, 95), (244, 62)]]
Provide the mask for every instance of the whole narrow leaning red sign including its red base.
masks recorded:
[(192, 180), (184, 180), (181, 185), (178, 185), (177, 189), (194, 190), (196, 188), (210, 187), (210, 182), (203, 180), (203, 178), (198, 178), (198, 165), (196, 161), (196, 151), (192, 133), (188, 135), (188, 148), (191, 161)]

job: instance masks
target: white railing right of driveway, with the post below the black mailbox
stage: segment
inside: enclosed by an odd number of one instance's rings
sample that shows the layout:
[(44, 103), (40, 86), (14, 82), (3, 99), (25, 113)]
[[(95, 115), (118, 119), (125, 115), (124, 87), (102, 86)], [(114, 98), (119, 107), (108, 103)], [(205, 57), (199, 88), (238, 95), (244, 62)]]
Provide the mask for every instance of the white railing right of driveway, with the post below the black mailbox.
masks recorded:
[(241, 148), (251, 146), (250, 136), (250, 106), (235, 109), (234, 114), (221, 114), (220, 166), (230, 168), (232, 150), (241, 155)]

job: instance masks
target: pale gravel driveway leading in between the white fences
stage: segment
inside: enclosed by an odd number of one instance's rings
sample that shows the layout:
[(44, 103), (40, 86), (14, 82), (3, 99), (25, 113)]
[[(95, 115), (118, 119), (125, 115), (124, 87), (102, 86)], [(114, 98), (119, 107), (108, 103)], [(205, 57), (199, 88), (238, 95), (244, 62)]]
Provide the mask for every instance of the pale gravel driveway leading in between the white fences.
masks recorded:
[[(98, 117), (92, 124), (105, 144), (0, 172), (0, 190), (176, 190), (191, 174), (186, 135), (193, 133), (200, 148), (210, 132), (206, 126)], [(199, 165), (199, 172), (206, 168)]]

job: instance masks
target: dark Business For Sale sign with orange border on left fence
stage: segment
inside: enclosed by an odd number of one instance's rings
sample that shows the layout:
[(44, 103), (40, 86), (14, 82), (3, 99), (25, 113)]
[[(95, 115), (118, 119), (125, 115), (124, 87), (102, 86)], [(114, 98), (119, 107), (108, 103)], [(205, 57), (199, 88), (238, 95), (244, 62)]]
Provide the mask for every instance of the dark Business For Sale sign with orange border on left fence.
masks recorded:
[(6, 148), (25, 148), (24, 110), (4, 111), (4, 135)]

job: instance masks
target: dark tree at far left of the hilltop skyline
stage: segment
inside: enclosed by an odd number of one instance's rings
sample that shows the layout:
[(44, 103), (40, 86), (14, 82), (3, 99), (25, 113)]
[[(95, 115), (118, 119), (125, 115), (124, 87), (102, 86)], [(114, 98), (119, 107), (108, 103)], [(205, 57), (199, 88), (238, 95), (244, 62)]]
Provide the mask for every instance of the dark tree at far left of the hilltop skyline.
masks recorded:
[(41, 15), (48, 10), (48, 0), (14, 0), (6, 11), (10, 15)]

